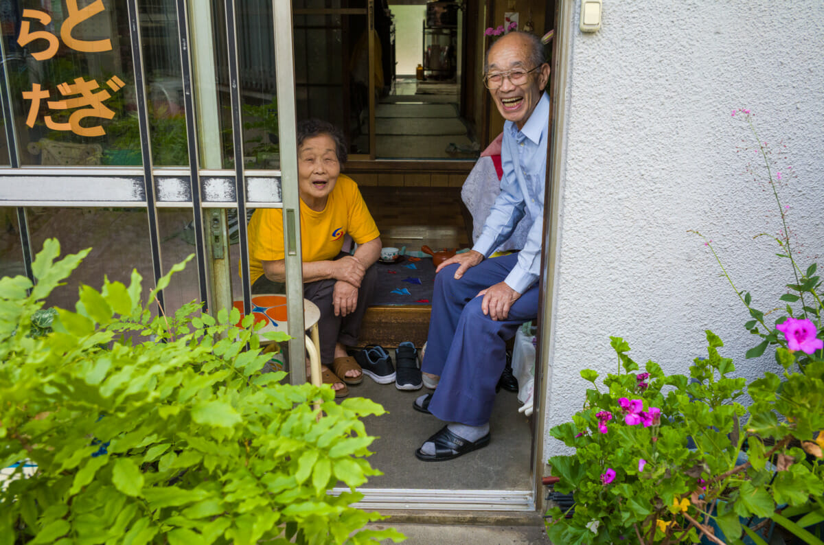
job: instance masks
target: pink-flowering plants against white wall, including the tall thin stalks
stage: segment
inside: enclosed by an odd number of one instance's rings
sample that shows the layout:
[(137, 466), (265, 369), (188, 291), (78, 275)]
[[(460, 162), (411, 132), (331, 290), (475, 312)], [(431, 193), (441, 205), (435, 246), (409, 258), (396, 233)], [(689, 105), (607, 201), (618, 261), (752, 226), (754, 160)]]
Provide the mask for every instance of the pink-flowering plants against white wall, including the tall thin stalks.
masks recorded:
[[(560, 478), (556, 490), (574, 491), (574, 515), (550, 510), (548, 526), (555, 543), (756, 543), (764, 545), (770, 525), (803, 543), (824, 545), (824, 341), (821, 331), (821, 282), (817, 264), (798, 264), (789, 229), (789, 207), (780, 189), (791, 169), (775, 164), (756, 132), (751, 112), (733, 111), (754, 137), (751, 151), (780, 211), (780, 231), (768, 236), (777, 254), (792, 268), (782, 306), (767, 312), (753, 305), (748, 291), (735, 286), (714, 248), (714, 255), (750, 320), (745, 327), (761, 338), (747, 357), (775, 347), (781, 374), (765, 372), (747, 386), (752, 399), (747, 423), (744, 379), (731, 378), (733, 361), (719, 356), (723, 344), (707, 331), (708, 357), (695, 360), (686, 376), (666, 376), (652, 361), (646, 373), (633, 375), (637, 364), (629, 346), (612, 338), (618, 375), (597, 387), (597, 372), (583, 370), (592, 382), (583, 411), (573, 422), (550, 433), (574, 448), (569, 456), (550, 459)], [(761, 167), (763, 163), (763, 167)], [(782, 175), (784, 172), (784, 175)], [(790, 174), (788, 174), (790, 173)], [(697, 231), (694, 231), (697, 233)], [(700, 233), (697, 233), (700, 235)], [(703, 237), (703, 235), (701, 235)], [(663, 393), (666, 392), (666, 395)]]

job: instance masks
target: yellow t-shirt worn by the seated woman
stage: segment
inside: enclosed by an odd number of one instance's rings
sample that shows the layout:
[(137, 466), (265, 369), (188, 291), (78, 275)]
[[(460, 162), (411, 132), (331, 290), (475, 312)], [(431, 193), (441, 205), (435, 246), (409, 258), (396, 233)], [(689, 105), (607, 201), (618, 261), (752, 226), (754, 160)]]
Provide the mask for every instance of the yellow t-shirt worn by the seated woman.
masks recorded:
[[(347, 234), (358, 244), (381, 235), (363, 202), (358, 184), (347, 175), (339, 175), (321, 212), (315, 212), (301, 201), (303, 261), (334, 259)], [(283, 209), (258, 208), (249, 221), (251, 283), (263, 276), (262, 261), (277, 261), (283, 256)]]

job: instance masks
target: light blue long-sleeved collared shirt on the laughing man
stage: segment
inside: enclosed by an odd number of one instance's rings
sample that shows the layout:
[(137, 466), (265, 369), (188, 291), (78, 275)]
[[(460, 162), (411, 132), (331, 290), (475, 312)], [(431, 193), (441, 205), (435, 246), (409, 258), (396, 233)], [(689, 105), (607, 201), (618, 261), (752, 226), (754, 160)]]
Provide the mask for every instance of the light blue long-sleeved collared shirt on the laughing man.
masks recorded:
[(503, 281), (518, 293), (527, 291), (541, 273), (549, 119), (550, 96), (544, 93), (521, 130), (512, 121), (503, 124), (501, 193), (472, 247), (488, 258), (512, 235), (519, 221), (527, 221), (527, 242)]

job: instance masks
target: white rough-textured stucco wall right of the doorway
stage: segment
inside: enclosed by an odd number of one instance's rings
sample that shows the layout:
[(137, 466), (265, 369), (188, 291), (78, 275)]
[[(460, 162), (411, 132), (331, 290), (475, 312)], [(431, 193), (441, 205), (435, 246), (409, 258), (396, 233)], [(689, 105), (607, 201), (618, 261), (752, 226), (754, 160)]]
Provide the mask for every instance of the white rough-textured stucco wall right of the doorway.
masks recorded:
[(743, 328), (747, 310), (687, 232), (714, 240), (756, 308), (780, 304), (788, 262), (751, 239), (779, 231), (777, 209), (745, 171), (758, 157), (737, 153), (754, 141), (733, 109), (756, 114), (776, 158), (787, 145), (780, 170), (796, 177), (780, 191), (801, 262), (824, 255), (824, 3), (603, 0), (592, 35), (574, 3), (546, 458), (563, 452), (550, 427), (582, 406), (578, 371), (615, 372), (610, 335), (642, 365), (686, 373), (711, 328), (739, 375), (777, 367), (770, 351), (744, 359), (760, 340)]

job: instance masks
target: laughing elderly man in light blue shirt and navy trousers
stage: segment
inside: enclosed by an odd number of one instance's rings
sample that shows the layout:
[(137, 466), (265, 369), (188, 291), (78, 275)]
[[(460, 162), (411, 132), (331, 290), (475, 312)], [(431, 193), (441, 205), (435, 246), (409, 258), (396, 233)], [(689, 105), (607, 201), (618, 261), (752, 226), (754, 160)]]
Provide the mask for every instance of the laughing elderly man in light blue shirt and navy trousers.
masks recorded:
[[(503, 179), (471, 251), (438, 267), (421, 369), (433, 394), (414, 408), (447, 422), (415, 451), (428, 462), (454, 459), (489, 445), (489, 415), (506, 365), (506, 342), (538, 313), (550, 67), (541, 41), (511, 32), (487, 52), (484, 83), (506, 119)], [(528, 236), (516, 254), (487, 259), (519, 222)]]

